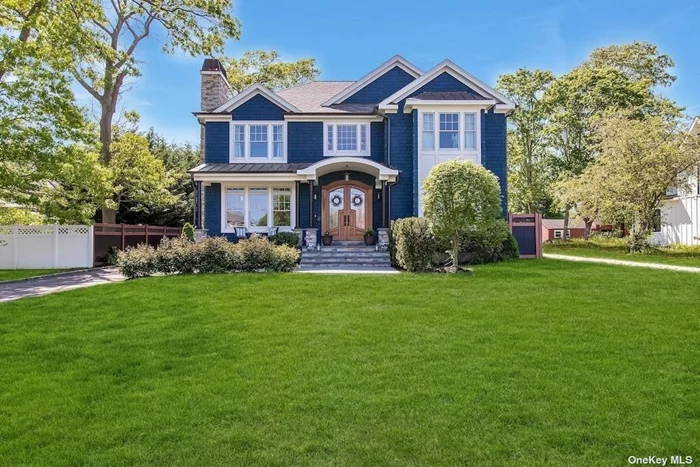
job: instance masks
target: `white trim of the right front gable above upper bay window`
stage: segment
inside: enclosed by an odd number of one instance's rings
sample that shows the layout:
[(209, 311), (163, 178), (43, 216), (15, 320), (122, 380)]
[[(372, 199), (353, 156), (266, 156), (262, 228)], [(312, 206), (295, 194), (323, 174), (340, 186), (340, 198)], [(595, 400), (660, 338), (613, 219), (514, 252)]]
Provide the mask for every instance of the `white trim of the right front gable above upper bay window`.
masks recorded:
[[(479, 80), (478, 78), (476, 78), (475, 76), (473, 76), (472, 74), (455, 64), (452, 60), (444, 60), (440, 62), (438, 65), (436, 65), (431, 70), (425, 72), (415, 81), (409, 83), (407, 86), (404, 86), (391, 96), (384, 99), (382, 102), (379, 103), (379, 109), (395, 110), (397, 108), (397, 104), (401, 100), (406, 99), (412, 93), (419, 90), (426, 84), (430, 83), (433, 79), (437, 78), (442, 73), (448, 73), (450, 76), (454, 77), (466, 86), (469, 86), (470, 88), (479, 92), (481, 95), (486, 97), (487, 100), (493, 99), (495, 101), (496, 110), (509, 112), (515, 109), (515, 103), (513, 101), (511, 101), (500, 92), (496, 91), (492, 87), (488, 86), (487, 84), (485, 84), (484, 82), (482, 82), (481, 80)], [(487, 102), (487, 100), (484, 100), (484, 102)]]

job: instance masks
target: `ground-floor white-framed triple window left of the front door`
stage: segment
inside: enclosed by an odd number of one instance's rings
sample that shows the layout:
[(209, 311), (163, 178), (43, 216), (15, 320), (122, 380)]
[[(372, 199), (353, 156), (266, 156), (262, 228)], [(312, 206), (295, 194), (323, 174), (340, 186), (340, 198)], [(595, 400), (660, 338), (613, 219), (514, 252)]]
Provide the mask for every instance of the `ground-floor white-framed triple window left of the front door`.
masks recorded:
[(247, 227), (266, 232), (269, 227), (293, 227), (293, 190), (287, 186), (225, 186), (222, 190), (222, 232)]

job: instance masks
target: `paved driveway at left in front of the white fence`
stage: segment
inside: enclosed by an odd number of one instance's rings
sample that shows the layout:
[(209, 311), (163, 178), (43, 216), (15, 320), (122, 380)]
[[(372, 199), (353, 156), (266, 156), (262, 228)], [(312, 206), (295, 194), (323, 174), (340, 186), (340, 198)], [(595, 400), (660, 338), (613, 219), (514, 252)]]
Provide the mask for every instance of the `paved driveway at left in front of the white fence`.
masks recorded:
[(0, 302), (9, 302), (20, 298), (35, 297), (123, 280), (124, 276), (116, 268), (96, 268), (88, 271), (57, 274), (43, 279), (9, 282), (0, 284)]

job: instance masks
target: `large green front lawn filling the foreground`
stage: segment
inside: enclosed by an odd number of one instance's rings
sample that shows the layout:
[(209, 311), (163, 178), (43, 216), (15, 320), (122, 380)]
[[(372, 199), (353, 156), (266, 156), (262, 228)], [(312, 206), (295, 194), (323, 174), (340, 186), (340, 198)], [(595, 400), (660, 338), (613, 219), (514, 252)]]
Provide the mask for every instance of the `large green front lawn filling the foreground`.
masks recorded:
[(0, 305), (0, 465), (700, 457), (700, 278), (235, 274)]

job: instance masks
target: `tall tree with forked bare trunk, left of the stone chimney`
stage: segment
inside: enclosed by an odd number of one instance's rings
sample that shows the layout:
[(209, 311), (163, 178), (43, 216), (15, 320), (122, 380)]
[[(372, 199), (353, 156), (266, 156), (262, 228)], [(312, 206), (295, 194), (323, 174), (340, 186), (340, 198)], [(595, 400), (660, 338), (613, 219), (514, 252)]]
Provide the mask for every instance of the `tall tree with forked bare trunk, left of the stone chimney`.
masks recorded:
[[(71, 71), (100, 107), (100, 154), (105, 166), (111, 165), (113, 157), (113, 119), (119, 96), (126, 90), (126, 80), (140, 75), (139, 45), (160, 27), (166, 33), (165, 52), (221, 53), (226, 39), (240, 34), (239, 21), (229, 14), (231, 8), (231, 0), (112, 0), (94, 3), (90, 16), (76, 18), (82, 35), (80, 41), (68, 44), (79, 57)], [(105, 208), (102, 219), (115, 222), (116, 212)]]

